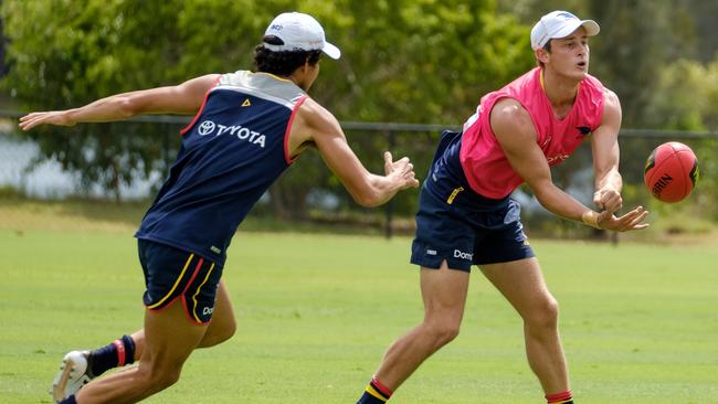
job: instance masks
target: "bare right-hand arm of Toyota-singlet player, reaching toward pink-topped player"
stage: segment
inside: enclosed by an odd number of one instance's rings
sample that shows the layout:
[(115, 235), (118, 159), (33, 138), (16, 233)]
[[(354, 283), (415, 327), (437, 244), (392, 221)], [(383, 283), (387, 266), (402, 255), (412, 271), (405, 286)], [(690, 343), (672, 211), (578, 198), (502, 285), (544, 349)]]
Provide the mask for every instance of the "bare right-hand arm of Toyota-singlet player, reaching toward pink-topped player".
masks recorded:
[(409, 158), (393, 161), (388, 151), (384, 152), (384, 176), (369, 172), (347, 143), (347, 138), (334, 115), (312, 98), (302, 105), (292, 136), (294, 139), (289, 141), (291, 153), (294, 155), (300, 145), (316, 145), (329, 169), (362, 206), (381, 205), (397, 192), (419, 187)]

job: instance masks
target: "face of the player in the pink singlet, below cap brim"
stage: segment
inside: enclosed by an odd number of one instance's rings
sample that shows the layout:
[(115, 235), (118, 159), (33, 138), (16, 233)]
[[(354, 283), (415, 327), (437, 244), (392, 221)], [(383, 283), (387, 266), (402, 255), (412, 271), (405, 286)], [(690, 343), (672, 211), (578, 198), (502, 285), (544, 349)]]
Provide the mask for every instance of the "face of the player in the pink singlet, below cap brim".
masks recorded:
[(583, 79), (589, 73), (589, 39), (580, 26), (566, 38), (551, 40), (551, 52), (547, 53), (547, 68), (562, 76)]

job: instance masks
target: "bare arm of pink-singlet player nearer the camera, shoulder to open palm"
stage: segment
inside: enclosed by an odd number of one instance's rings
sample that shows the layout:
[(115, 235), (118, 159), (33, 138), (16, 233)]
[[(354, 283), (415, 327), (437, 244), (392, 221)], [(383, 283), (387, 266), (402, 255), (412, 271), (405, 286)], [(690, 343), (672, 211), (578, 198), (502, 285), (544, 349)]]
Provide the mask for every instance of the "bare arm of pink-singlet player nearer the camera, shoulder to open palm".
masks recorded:
[(526, 181), (541, 205), (551, 213), (593, 227), (619, 232), (647, 226), (641, 224), (647, 214), (643, 208), (615, 217), (610, 211), (594, 212), (556, 187), (546, 157), (536, 142), (537, 134), (531, 118), (518, 102), (510, 98), (499, 100), (492, 110), (490, 121), (511, 167)]

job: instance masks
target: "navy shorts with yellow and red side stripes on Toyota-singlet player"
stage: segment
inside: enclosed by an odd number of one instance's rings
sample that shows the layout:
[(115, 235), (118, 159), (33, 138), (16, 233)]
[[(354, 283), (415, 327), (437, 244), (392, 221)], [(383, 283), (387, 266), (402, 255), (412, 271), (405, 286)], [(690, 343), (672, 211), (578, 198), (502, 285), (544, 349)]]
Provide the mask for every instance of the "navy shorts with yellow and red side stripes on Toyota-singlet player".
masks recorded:
[(166, 244), (138, 240), (137, 245), (147, 287), (142, 296), (145, 306), (150, 310), (161, 310), (179, 299), (191, 321), (209, 323), (222, 267)]

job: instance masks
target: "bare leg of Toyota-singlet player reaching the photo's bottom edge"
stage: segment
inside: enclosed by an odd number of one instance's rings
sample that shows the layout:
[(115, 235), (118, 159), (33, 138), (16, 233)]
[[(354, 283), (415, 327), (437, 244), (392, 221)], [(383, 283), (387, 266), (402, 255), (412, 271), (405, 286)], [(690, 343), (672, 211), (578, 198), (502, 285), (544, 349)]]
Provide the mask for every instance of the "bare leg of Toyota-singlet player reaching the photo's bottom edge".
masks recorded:
[(92, 381), (76, 394), (77, 403), (136, 403), (169, 387), (207, 329), (190, 322), (178, 301), (161, 311), (147, 310), (139, 365)]

